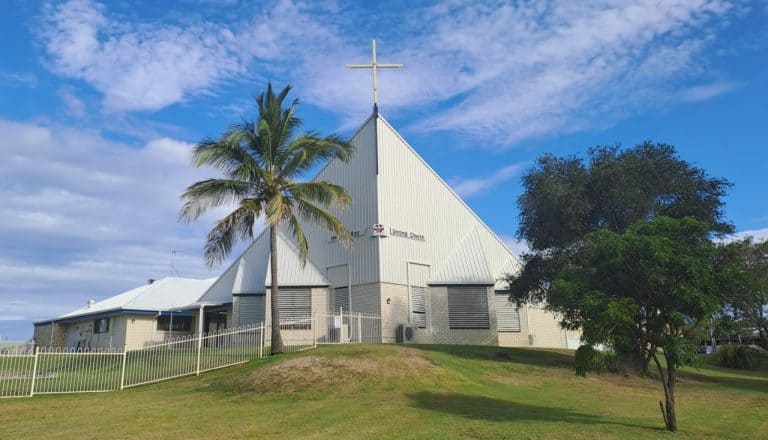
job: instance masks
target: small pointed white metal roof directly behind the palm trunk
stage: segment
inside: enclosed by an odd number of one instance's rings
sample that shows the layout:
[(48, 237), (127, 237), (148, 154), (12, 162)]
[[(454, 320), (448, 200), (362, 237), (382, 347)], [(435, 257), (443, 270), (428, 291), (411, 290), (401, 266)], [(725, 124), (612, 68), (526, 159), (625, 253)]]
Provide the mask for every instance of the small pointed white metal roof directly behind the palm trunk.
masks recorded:
[[(213, 305), (232, 301), (232, 294), (265, 293), (270, 283), (269, 230), (265, 230), (206, 290), (195, 304)], [(327, 286), (328, 279), (309, 260), (302, 267), (299, 250), (278, 230), (277, 273), (280, 286)]]

